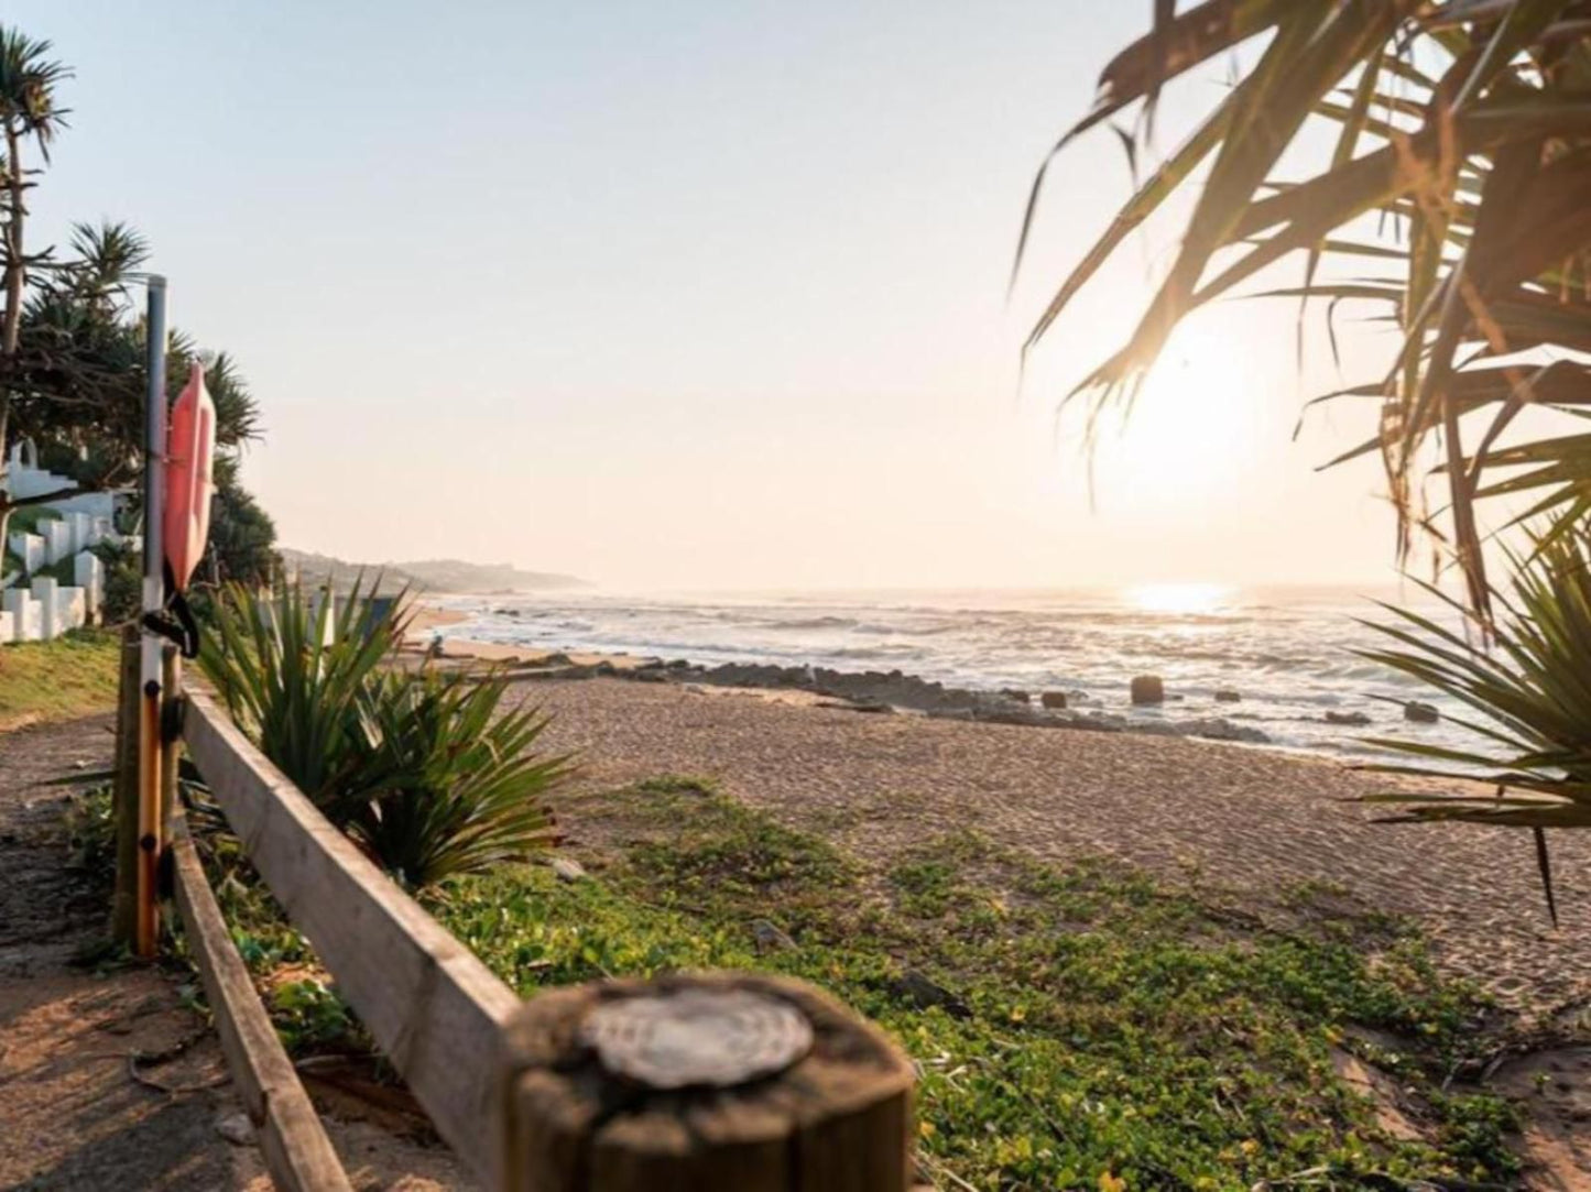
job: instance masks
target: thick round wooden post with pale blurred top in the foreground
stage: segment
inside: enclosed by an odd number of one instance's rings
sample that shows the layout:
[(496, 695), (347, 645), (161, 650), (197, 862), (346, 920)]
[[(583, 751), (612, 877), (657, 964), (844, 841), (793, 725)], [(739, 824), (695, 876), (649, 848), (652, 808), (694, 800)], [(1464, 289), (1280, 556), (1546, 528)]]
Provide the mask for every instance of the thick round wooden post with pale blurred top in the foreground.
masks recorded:
[(912, 1065), (767, 974), (552, 990), (504, 1034), (504, 1192), (905, 1192)]

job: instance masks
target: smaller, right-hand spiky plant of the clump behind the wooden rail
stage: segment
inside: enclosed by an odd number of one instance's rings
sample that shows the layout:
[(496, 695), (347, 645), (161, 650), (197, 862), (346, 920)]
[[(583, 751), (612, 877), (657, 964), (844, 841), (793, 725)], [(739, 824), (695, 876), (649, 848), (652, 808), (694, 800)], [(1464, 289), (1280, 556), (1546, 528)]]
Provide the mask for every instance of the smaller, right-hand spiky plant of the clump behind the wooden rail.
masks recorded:
[(523, 861), (557, 837), (546, 794), (568, 759), (536, 751), (547, 718), (504, 711), (508, 684), (466, 673), (390, 672), (361, 699), (380, 775), (348, 832), (409, 886)]

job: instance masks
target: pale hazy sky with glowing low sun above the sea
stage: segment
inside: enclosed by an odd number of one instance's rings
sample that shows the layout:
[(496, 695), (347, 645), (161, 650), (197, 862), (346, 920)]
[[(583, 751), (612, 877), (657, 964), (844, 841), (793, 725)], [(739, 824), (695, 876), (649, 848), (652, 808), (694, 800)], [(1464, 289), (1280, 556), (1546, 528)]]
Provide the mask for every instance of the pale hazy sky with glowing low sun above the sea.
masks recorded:
[[(1099, 129), (1033, 172), (1150, 5), (22, 0), (76, 76), (33, 228), (129, 220), (237, 358), (285, 544), (627, 589), (1392, 578), (1371, 433), (1295, 307), (1222, 302), (1090, 457), (1071, 382), (1174, 245), (1134, 240), (1023, 376), (1130, 193)], [(1219, 95), (1161, 107), (1157, 145)], [(1297, 271), (1297, 266), (1293, 266)], [(1349, 328), (1348, 380), (1386, 341)]]

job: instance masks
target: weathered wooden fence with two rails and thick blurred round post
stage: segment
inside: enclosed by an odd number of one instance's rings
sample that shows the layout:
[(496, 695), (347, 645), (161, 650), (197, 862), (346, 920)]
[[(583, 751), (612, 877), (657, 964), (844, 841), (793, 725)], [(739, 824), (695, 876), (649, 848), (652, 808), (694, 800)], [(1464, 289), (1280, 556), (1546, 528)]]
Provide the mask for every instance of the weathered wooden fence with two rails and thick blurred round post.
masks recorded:
[[(169, 684), (172, 688), (175, 684)], [(912, 1068), (875, 1026), (754, 974), (598, 982), (522, 1003), (202, 691), (180, 735), (255, 869), (442, 1139), (512, 1192), (901, 1192)], [(169, 767), (175, 781), (175, 767)], [(180, 808), (177, 907), (280, 1189), (347, 1189), (205, 883)]]

